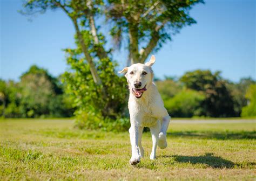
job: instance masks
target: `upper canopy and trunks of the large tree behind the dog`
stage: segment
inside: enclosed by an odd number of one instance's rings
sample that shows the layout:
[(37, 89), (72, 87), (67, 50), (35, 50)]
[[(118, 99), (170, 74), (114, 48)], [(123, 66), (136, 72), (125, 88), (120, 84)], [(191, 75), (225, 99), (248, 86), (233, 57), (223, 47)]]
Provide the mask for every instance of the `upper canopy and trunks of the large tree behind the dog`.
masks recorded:
[[(124, 43), (127, 47), (133, 64), (144, 62), (152, 51), (171, 40), (183, 26), (196, 23), (189, 10), (199, 2), (203, 3), (202, 0), (30, 0), (23, 4), (22, 12), (31, 15), (48, 9), (62, 9), (75, 27), (94, 82), (102, 85), (95, 61), (108, 58), (113, 48), (106, 50), (98, 19), (107, 19), (109, 23), (105, 26), (111, 26), (111, 36), (117, 44)], [(105, 94), (104, 87), (102, 89)]]

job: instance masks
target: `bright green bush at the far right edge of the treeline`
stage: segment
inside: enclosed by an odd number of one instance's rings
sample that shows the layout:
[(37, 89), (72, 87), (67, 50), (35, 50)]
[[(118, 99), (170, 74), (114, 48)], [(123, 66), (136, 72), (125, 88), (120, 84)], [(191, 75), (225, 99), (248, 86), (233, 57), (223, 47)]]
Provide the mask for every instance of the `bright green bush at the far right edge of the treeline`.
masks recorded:
[(248, 106), (242, 108), (242, 117), (256, 116), (256, 84), (251, 85), (246, 92)]

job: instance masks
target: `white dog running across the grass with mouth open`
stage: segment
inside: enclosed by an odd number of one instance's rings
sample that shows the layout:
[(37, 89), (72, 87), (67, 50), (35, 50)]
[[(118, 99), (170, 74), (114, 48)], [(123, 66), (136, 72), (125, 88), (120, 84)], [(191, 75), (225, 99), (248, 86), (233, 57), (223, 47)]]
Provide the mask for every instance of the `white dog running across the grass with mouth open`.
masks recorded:
[(125, 77), (129, 83), (129, 112), (131, 128), (129, 129), (132, 146), (131, 165), (140, 162), (144, 156), (142, 147), (142, 131), (149, 127), (152, 134), (153, 148), (150, 159), (156, 158), (157, 145), (164, 149), (167, 147), (166, 131), (171, 117), (164, 107), (164, 102), (153, 83), (153, 71), (151, 66), (156, 58), (152, 55), (146, 64), (133, 64), (125, 67), (119, 73), (126, 73)]

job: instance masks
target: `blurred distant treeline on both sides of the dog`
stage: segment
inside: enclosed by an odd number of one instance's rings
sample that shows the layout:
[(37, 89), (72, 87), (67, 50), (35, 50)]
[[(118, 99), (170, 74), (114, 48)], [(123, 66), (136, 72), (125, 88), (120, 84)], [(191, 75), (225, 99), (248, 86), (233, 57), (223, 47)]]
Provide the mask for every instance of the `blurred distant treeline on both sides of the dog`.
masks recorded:
[[(70, 117), (76, 110), (73, 96), (43, 68), (31, 66), (18, 82), (0, 80), (0, 114), (3, 117)], [(239, 117), (256, 115), (256, 86), (251, 78), (238, 83), (220, 72), (187, 72), (180, 78), (155, 80), (172, 117)], [(113, 90), (114, 91), (114, 90)]]

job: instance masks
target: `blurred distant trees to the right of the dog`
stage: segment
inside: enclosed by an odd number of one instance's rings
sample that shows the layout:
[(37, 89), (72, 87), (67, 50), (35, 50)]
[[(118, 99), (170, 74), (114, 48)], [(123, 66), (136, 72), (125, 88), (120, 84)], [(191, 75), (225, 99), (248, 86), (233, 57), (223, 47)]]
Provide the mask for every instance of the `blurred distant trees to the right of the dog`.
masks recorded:
[(234, 83), (221, 78), (220, 72), (198, 69), (156, 83), (173, 117), (256, 116), (256, 86), (251, 78)]

